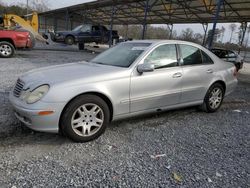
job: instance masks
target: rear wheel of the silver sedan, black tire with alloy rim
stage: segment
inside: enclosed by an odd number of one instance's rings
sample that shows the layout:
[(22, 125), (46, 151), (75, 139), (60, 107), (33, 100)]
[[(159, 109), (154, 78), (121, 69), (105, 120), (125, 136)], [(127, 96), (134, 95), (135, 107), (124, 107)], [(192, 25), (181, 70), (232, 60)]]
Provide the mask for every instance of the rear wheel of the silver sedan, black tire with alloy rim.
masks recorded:
[(201, 109), (208, 113), (216, 112), (223, 102), (224, 94), (225, 90), (220, 83), (213, 84), (206, 93)]

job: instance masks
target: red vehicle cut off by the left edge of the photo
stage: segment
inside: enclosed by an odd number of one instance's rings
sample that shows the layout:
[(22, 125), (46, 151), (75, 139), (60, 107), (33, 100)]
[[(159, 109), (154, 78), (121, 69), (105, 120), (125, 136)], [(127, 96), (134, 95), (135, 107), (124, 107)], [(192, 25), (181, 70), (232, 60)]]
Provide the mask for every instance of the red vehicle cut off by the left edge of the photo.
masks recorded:
[(0, 30), (0, 57), (9, 58), (16, 49), (32, 47), (28, 31)]

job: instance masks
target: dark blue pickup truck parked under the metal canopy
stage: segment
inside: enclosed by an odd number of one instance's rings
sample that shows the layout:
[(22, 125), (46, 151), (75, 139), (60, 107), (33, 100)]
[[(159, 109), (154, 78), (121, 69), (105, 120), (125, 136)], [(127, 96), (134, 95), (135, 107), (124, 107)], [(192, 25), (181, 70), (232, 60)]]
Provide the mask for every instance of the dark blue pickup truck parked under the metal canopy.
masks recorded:
[[(79, 25), (72, 31), (58, 31), (51, 33), (51, 39), (54, 42), (65, 43), (68, 45), (77, 43), (107, 43), (110, 38), (110, 30), (102, 25)], [(118, 40), (119, 36), (117, 31), (112, 31), (112, 41)]]

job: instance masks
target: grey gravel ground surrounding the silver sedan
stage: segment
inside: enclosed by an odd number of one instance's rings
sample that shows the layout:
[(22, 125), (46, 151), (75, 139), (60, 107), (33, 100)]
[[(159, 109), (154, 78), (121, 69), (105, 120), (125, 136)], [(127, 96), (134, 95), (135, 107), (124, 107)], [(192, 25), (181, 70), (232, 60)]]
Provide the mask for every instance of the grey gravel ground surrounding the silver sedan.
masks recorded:
[(33, 132), (14, 118), (7, 98), (20, 74), (93, 56), (33, 50), (0, 59), (0, 187), (250, 187), (245, 81), (217, 113), (186, 108), (118, 121), (84, 144)]

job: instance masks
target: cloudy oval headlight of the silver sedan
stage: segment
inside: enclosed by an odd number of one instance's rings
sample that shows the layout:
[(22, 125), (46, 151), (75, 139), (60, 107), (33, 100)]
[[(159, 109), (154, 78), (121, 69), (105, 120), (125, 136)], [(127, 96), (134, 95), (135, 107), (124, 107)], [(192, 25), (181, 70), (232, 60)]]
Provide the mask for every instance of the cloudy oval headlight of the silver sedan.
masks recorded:
[(28, 104), (39, 101), (49, 91), (49, 85), (41, 85), (25, 96)]

